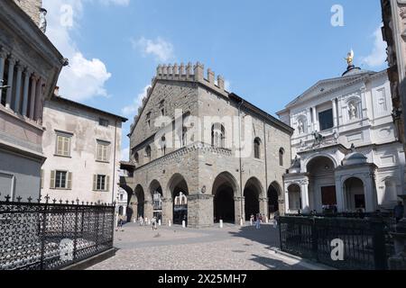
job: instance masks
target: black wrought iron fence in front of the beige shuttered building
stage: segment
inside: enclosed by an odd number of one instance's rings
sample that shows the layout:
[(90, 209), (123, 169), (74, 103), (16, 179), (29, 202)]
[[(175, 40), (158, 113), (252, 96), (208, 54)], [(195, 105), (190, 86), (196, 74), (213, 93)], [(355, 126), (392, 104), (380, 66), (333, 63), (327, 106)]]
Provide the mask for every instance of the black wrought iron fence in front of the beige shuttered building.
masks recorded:
[(113, 247), (115, 206), (0, 201), (0, 270), (53, 270)]

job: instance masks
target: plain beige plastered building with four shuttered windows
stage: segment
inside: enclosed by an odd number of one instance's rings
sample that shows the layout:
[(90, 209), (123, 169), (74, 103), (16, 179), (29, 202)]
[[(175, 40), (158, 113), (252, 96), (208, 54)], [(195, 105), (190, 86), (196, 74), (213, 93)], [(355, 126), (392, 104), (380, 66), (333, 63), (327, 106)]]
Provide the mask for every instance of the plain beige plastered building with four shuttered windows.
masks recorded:
[(43, 112), (42, 198), (66, 202), (120, 200), (121, 116), (55, 94)]

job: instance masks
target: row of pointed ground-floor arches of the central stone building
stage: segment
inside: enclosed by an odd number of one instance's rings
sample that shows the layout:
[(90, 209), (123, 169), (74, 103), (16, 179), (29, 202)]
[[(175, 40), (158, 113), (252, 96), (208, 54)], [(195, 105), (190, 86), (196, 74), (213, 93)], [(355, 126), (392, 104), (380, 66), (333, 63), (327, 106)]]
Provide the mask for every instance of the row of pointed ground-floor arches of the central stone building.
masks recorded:
[[(162, 190), (162, 187), (165, 189)], [(137, 184), (130, 197), (133, 221), (140, 216), (148, 219), (154, 216), (161, 220), (162, 225), (168, 225), (170, 220), (172, 224), (181, 225), (183, 220), (188, 224), (196, 212), (192, 211), (195, 206), (189, 204), (194, 195), (189, 193), (189, 185), (180, 174), (172, 175), (166, 186), (158, 180), (152, 180), (146, 191), (148, 193), (145, 193), (141, 184)], [(238, 224), (241, 218), (249, 220), (252, 214), (258, 213), (272, 219), (283, 203), (281, 186), (277, 182), (270, 184), (265, 191), (261, 182), (252, 177), (245, 182), (244, 190), (241, 191), (235, 177), (227, 172), (217, 175), (211, 193), (208, 191), (205, 196), (212, 203), (212, 207), (208, 207), (208, 221), (212, 225), (219, 220)]]

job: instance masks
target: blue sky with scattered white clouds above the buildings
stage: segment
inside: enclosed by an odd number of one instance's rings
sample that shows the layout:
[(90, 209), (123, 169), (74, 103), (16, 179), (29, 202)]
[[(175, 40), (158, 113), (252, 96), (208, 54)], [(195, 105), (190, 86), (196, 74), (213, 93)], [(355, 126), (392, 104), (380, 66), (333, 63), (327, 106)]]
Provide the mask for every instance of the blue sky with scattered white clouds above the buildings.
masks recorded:
[[(331, 7), (344, 26), (331, 25)], [(160, 63), (200, 61), (229, 89), (274, 114), (320, 79), (357, 66), (382, 70), (379, 0), (43, 0), (47, 35), (69, 58), (60, 94), (122, 114), (123, 149), (136, 106)], [(127, 157), (127, 155), (125, 155)]]

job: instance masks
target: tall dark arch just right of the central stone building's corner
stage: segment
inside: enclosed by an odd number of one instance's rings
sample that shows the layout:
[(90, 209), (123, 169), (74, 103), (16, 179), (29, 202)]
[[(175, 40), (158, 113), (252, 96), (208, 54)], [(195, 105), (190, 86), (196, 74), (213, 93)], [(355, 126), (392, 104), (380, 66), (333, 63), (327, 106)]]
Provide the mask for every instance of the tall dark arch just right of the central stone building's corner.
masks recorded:
[(223, 220), (226, 223), (235, 223), (235, 178), (229, 173), (217, 175), (213, 184), (214, 194), (214, 222)]

